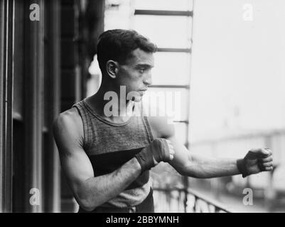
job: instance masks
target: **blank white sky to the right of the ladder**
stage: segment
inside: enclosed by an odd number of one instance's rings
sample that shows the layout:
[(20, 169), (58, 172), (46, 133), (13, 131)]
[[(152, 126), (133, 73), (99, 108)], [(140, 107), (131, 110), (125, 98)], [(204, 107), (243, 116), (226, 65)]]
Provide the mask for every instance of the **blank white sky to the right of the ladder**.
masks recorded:
[(285, 128), (285, 1), (196, 0), (194, 13), (191, 140)]

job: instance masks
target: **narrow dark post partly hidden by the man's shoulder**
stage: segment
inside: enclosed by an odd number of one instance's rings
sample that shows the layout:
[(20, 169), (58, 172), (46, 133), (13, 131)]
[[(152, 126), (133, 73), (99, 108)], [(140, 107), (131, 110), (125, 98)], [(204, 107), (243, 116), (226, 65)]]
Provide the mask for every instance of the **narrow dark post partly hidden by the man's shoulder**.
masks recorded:
[(60, 212), (60, 162), (52, 123), (60, 113), (60, 1), (45, 1), (43, 175), (45, 212)]

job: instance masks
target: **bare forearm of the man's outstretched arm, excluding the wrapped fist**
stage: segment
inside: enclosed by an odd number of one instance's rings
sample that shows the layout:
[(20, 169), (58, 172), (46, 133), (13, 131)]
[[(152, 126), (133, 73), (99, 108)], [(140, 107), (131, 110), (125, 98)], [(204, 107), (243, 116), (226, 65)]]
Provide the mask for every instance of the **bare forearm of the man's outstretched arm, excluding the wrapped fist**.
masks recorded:
[(189, 165), (183, 167), (183, 175), (197, 178), (225, 177), (238, 175), (236, 159), (216, 159), (191, 154)]

